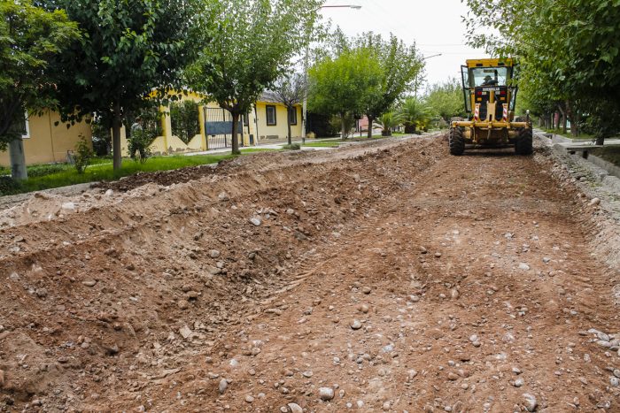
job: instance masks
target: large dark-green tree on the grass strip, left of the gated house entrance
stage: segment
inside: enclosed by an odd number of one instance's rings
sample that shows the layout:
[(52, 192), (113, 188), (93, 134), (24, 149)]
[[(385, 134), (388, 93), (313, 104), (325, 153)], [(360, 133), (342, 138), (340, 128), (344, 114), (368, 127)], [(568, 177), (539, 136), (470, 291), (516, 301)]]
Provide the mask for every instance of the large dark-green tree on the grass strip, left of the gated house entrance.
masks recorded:
[[(167, 103), (182, 86), (182, 69), (205, 42), (207, 0), (47, 0), (79, 23), (82, 39), (55, 62), (62, 119), (97, 113), (112, 128), (113, 167), (119, 169), (120, 127), (145, 97)], [(202, 44), (201, 46), (204, 46)]]

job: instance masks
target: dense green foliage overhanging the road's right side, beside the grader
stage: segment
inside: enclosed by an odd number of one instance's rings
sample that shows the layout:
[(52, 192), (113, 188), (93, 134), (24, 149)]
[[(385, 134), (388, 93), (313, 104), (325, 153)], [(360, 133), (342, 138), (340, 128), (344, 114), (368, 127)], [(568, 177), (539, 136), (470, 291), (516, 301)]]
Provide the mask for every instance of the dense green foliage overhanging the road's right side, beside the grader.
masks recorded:
[[(469, 43), (516, 56), (534, 113), (588, 113), (604, 139), (620, 118), (620, 3), (616, 0), (467, 0)], [(558, 107), (560, 105), (561, 107)]]

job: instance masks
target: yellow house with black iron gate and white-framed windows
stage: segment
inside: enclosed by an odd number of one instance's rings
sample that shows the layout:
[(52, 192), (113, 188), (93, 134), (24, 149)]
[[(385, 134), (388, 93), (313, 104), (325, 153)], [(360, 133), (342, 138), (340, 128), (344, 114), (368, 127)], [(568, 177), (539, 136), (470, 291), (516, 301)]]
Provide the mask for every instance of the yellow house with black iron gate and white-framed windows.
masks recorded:
[[(151, 152), (155, 155), (173, 154), (178, 152), (196, 152), (207, 149), (228, 148), (231, 145), (232, 118), (229, 111), (222, 109), (217, 103), (205, 101), (205, 95), (186, 91), (181, 102), (191, 100), (198, 103), (196, 113), (199, 125), (199, 134), (196, 134), (187, 144), (183, 142), (172, 128), (170, 108), (162, 106), (161, 130), (162, 135), (151, 143)], [(259, 143), (285, 141), (288, 135), (287, 121), (291, 122), (291, 136), (301, 137), (301, 105), (295, 111), (287, 114), (286, 107), (277, 103), (270, 92), (260, 96), (252, 111), (240, 119), (239, 141), (243, 146), (254, 146)], [(125, 129), (121, 130), (120, 148), (122, 155), (128, 157), (128, 140)]]

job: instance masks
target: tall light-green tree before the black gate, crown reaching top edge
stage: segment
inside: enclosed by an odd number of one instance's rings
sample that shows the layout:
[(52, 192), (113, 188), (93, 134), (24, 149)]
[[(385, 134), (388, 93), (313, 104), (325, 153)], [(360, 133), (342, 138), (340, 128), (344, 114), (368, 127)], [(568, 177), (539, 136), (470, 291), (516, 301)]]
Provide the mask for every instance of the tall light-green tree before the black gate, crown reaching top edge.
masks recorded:
[(288, 69), (310, 41), (306, 28), (320, 0), (221, 0), (210, 43), (190, 68), (194, 90), (232, 115), (232, 153), (239, 153), (238, 122)]

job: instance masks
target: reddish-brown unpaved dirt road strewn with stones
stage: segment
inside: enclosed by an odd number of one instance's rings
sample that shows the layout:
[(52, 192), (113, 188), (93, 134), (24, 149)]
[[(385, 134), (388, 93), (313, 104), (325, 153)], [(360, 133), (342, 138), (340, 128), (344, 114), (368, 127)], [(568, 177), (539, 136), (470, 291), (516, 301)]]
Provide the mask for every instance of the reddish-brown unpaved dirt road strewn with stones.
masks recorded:
[(620, 411), (598, 207), (543, 149), (446, 152), (259, 154), (7, 212), (0, 411)]

